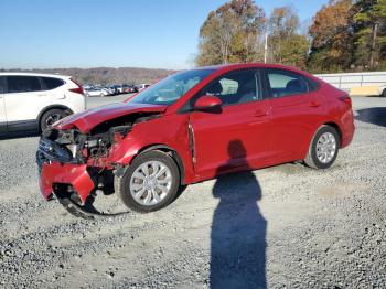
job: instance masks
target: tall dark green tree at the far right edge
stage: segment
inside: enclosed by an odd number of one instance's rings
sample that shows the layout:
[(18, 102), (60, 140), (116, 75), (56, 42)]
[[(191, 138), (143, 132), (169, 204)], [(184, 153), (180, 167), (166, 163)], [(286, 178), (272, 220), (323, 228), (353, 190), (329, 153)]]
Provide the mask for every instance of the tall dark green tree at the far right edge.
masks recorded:
[(386, 0), (358, 0), (352, 8), (355, 64), (374, 68), (385, 57)]

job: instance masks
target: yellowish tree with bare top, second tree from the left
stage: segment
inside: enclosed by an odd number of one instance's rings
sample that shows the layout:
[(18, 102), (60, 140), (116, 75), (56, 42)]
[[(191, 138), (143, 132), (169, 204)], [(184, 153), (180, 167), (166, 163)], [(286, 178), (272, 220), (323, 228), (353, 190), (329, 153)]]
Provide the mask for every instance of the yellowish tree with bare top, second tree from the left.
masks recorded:
[(309, 41), (299, 34), (299, 17), (291, 7), (274, 9), (268, 21), (269, 62), (305, 67)]

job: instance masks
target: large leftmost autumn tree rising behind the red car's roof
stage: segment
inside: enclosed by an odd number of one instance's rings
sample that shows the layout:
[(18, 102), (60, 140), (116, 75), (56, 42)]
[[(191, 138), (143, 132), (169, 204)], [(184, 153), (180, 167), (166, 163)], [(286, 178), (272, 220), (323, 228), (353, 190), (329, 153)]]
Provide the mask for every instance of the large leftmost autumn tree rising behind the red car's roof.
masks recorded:
[(200, 29), (196, 64), (250, 62), (260, 57), (264, 10), (253, 0), (232, 0), (212, 11)]

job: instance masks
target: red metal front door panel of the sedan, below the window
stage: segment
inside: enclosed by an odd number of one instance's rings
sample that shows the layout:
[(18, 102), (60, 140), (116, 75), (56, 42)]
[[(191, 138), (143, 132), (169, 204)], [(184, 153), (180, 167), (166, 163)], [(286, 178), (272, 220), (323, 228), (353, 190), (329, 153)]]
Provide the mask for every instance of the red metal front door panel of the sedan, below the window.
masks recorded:
[(216, 175), (219, 168), (226, 172), (235, 167), (264, 167), (271, 156), (268, 100), (224, 107), (219, 114), (192, 113), (190, 122), (195, 168), (202, 178)]

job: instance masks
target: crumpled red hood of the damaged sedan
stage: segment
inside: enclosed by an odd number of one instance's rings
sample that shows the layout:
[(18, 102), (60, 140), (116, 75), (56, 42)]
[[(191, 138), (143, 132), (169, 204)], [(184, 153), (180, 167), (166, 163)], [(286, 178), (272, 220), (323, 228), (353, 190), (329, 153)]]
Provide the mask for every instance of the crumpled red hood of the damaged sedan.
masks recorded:
[(76, 127), (82, 132), (87, 133), (97, 125), (135, 113), (163, 113), (168, 106), (118, 103), (85, 110), (58, 120), (55, 129), (71, 129)]

